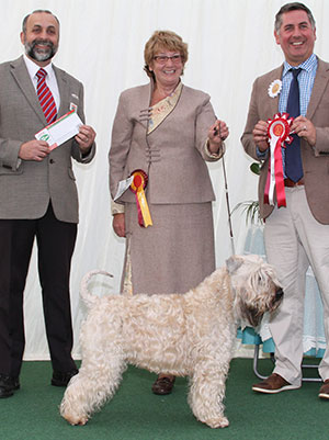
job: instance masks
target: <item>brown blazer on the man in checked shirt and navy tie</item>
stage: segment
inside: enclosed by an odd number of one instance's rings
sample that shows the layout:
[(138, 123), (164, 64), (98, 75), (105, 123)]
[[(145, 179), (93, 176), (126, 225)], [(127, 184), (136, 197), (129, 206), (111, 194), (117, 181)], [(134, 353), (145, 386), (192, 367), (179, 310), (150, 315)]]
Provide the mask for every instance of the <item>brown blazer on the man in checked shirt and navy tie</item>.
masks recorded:
[[(314, 217), (322, 224), (329, 224), (329, 64), (318, 60), (318, 70), (306, 117), (310, 120), (317, 134), (313, 148), (302, 139), (300, 150), (305, 179), (305, 192)], [(249, 113), (241, 142), (246, 153), (258, 160), (252, 129), (258, 121), (272, 119), (279, 109), (279, 97), (270, 98), (268, 88), (275, 79), (281, 79), (283, 66), (258, 78), (253, 83)], [(260, 213), (263, 218), (273, 211), (265, 204), (264, 188), (269, 158), (263, 162), (259, 180)]]

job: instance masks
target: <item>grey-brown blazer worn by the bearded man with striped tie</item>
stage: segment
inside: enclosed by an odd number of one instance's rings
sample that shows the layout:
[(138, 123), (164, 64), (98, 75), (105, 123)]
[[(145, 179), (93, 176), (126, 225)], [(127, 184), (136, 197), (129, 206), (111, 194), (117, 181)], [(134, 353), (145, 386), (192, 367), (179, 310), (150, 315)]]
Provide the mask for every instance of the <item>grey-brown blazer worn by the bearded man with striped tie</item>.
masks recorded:
[[(54, 66), (59, 94), (58, 117), (78, 108), (84, 122), (83, 87)], [(93, 145), (82, 158), (78, 144), (70, 139), (41, 162), (19, 160), (22, 143), (34, 139), (47, 125), (23, 57), (0, 65), (0, 218), (39, 218), (52, 200), (58, 219), (78, 223), (78, 194), (71, 157), (90, 162)]]

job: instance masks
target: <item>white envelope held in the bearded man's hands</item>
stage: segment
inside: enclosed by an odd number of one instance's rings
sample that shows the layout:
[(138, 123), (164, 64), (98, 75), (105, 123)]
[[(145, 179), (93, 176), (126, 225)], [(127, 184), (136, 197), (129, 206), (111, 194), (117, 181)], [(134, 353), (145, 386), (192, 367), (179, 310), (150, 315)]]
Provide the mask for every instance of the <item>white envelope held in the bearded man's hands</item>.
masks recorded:
[(59, 120), (53, 122), (53, 124), (47, 125), (45, 128), (36, 133), (35, 138), (37, 140), (46, 140), (53, 150), (76, 136), (79, 133), (79, 127), (81, 125), (83, 125), (83, 123), (73, 109)]

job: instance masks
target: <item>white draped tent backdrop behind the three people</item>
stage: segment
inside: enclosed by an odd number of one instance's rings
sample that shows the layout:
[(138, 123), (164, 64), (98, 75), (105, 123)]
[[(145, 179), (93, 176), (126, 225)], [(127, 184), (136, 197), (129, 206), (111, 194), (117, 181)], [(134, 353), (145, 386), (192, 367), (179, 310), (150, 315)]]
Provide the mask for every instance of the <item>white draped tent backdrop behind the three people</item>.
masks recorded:
[[(189, 44), (190, 59), (183, 82), (206, 91), (230, 136), (225, 156), (230, 205), (256, 199), (258, 178), (240, 145), (252, 82), (282, 63), (273, 37), (274, 15), (282, 0), (0, 0), (0, 61), (22, 54), (23, 16), (49, 9), (60, 21), (55, 64), (84, 84), (87, 123), (97, 131), (98, 153), (92, 163), (75, 165), (80, 195), (80, 224), (71, 271), (75, 328), (73, 356), (79, 358), (79, 328), (83, 306), (79, 285), (86, 272), (101, 268), (113, 281), (99, 279), (99, 294), (117, 292), (124, 239), (112, 230), (107, 188), (107, 151), (118, 94), (147, 82), (143, 71), (146, 41), (155, 30), (172, 30)], [(329, 1), (307, 0), (317, 22), (316, 53), (329, 60)], [(325, 21), (325, 19), (327, 19)], [(0, 84), (1, 87), (1, 84)], [(0, 115), (1, 117), (1, 115)], [(214, 203), (216, 258), (222, 266), (230, 256), (222, 161), (209, 166), (217, 201)], [(235, 246), (242, 252), (247, 233), (241, 213), (232, 215)], [(25, 359), (48, 359), (42, 313), (36, 256), (25, 289)]]

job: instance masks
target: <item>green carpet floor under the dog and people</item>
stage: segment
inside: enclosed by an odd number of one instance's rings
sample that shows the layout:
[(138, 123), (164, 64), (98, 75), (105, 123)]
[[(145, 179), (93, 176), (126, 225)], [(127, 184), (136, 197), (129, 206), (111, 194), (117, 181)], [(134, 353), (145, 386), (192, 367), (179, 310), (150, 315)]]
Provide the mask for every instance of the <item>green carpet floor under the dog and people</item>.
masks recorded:
[[(259, 362), (270, 374), (272, 362)], [(155, 375), (129, 368), (102, 411), (84, 427), (71, 427), (58, 413), (64, 388), (49, 385), (49, 362), (24, 362), (21, 390), (0, 400), (1, 440), (321, 440), (328, 439), (329, 402), (318, 398), (319, 383), (296, 391), (261, 395), (251, 359), (234, 359), (227, 381), (230, 426), (211, 429), (198, 422), (188, 403), (188, 381), (178, 379), (169, 396), (150, 392)], [(327, 421), (326, 421), (327, 420)]]

